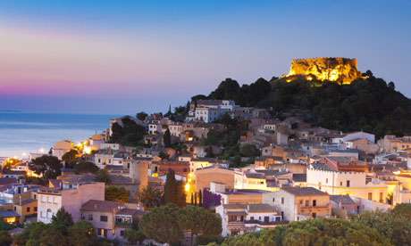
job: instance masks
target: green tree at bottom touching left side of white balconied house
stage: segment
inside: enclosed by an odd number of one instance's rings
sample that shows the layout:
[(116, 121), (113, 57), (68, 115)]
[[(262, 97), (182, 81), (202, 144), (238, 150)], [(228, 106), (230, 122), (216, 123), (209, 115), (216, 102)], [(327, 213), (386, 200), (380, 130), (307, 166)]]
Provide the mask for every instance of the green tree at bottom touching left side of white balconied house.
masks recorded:
[(206, 209), (195, 206), (187, 206), (181, 209), (180, 226), (189, 230), (190, 244), (193, 245), (194, 235), (219, 235), (222, 234), (222, 220)]

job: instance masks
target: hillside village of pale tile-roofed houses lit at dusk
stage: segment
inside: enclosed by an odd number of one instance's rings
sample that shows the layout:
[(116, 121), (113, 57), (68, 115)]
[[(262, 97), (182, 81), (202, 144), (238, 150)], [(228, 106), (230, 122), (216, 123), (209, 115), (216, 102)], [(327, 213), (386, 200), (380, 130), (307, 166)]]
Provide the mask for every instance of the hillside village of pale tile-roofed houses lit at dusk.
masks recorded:
[[(1, 158), (0, 217), (21, 225), (9, 233), (49, 224), (63, 208), (73, 222), (94, 225), (97, 236), (126, 243), (133, 222), (165, 203), (158, 196), (171, 172), (184, 186), (182, 206), (214, 214), (222, 236), (411, 203), (411, 136), (376, 139), (314, 127), (231, 100), (200, 99), (187, 110), (180, 121), (162, 113), (112, 119), (104, 133), (84, 142), (62, 140), (23, 160)], [(231, 124), (243, 126), (230, 143), (238, 148), (233, 156), (232, 146), (222, 144), (234, 135)], [(113, 135), (131, 125), (144, 128), (140, 144), (114, 143)], [(57, 168), (41, 167), (44, 156), (55, 157)], [(114, 196), (125, 190), (126, 198), (107, 198), (109, 187)], [(180, 242), (190, 244), (187, 230)]]

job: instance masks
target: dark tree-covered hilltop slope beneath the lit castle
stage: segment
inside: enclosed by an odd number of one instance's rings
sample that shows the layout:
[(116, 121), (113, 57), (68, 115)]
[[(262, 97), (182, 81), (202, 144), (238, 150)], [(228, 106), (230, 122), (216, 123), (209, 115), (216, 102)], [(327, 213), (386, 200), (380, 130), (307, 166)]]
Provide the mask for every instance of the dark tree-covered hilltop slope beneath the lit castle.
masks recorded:
[(210, 94), (198, 94), (192, 100), (233, 100), (242, 107), (267, 109), (279, 119), (298, 116), (314, 126), (364, 130), (377, 138), (411, 134), (411, 100), (396, 91), (393, 82), (375, 78), (369, 70), (348, 85), (303, 76), (291, 82), (286, 79), (258, 78), (239, 86), (226, 78)]

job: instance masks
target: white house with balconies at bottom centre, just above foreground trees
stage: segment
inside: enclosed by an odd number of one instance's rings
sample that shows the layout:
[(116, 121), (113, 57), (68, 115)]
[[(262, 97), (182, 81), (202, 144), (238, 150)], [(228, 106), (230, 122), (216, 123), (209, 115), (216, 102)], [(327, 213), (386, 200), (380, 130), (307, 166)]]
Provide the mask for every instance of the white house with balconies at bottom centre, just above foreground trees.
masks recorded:
[(215, 208), (222, 217), (222, 236), (258, 232), (287, 224), (269, 204), (222, 204)]

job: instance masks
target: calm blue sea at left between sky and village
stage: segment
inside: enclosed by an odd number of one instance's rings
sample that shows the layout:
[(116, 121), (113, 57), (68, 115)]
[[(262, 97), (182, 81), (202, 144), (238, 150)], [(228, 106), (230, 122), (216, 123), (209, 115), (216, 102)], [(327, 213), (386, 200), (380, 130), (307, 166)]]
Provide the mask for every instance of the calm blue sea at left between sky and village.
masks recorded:
[(120, 115), (0, 111), (0, 157), (28, 158), (60, 140), (74, 143), (110, 127)]

